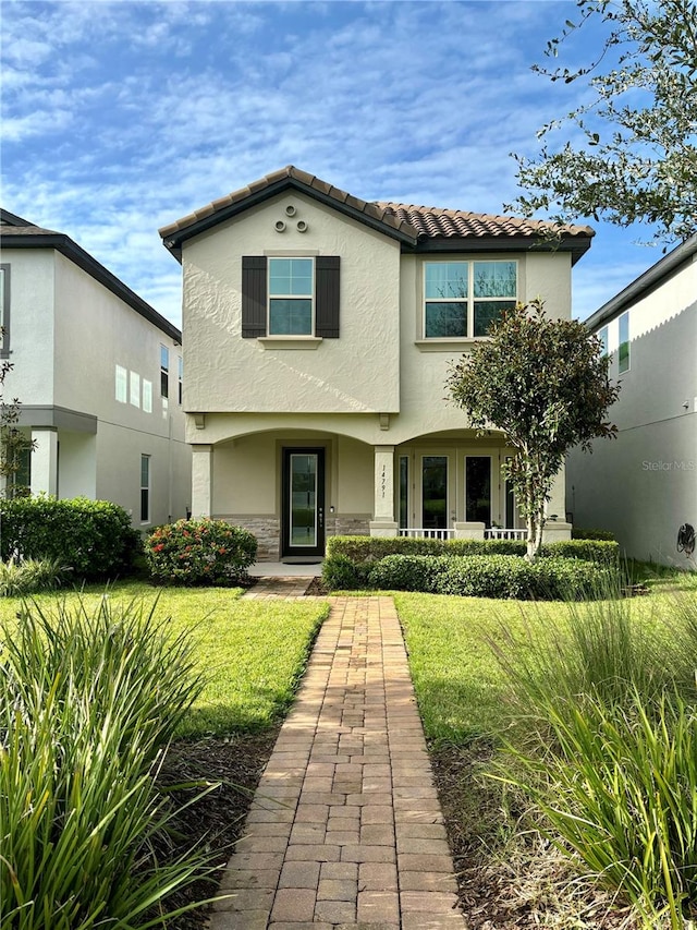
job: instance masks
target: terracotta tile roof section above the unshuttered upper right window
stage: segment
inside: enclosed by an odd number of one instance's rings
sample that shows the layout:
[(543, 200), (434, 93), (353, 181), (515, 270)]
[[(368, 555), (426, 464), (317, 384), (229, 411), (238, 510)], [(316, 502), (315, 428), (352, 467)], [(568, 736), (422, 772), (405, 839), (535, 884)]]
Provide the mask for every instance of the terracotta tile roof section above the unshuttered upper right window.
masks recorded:
[[(464, 237), (464, 235), (531, 235), (550, 231), (553, 227), (539, 219), (524, 219), (515, 216), (494, 216), (493, 214), (468, 213), (441, 207), (424, 207), (415, 204), (395, 204), (379, 202), (376, 204), (395, 218), (407, 222), (419, 237)], [(562, 226), (558, 232), (566, 235), (592, 235), (589, 226)]]

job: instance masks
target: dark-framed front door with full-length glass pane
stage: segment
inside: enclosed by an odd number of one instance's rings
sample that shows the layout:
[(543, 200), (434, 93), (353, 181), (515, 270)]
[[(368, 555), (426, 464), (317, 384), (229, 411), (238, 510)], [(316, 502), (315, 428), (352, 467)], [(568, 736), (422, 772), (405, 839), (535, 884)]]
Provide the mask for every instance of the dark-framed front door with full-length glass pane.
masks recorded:
[(281, 557), (325, 555), (325, 450), (283, 449)]

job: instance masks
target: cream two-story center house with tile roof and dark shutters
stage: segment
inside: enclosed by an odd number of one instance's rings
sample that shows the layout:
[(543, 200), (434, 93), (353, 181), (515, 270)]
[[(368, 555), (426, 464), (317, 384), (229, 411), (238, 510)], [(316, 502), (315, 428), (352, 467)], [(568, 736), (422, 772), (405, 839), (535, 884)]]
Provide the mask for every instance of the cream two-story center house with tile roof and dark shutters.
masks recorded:
[[(543, 230), (366, 203), (292, 166), (161, 229), (183, 266), (194, 515), (283, 559), (320, 557), (334, 533), (518, 528), (512, 451), (468, 428), (445, 378), (516, 301), (570, 317), (592, 230)], [(563, 475), (549, 512), (567, 535)]]

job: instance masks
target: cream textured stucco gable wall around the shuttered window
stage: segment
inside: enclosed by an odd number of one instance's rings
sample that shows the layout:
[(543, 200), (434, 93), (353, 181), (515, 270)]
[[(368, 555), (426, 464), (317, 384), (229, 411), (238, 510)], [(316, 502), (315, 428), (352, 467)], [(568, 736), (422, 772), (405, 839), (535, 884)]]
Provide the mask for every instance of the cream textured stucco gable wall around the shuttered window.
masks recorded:
[[(290, 221), (285, 207), (294, 206)], [(274, 224), (289, 220), (278, 233)], [(299, 233), (296, 221), (307, 224)], [(341, 257), (341, 337), (311, 348), (241, 338), (242, 257)], [(399, 409), (400, 246), (297, 193), (186, 243), (184, 346), (191, 411)]]

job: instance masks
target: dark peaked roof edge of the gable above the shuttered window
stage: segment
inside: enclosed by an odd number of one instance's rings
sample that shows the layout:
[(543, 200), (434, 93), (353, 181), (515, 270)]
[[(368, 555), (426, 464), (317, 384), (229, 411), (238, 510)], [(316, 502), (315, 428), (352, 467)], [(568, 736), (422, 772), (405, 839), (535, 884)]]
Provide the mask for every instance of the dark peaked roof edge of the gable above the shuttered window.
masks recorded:
[(174, 255), (174, 257), (179, 262), (181, 262), (182, 244), (187, 239), (193, 239), (194, 237), (199, 235), (201, 232), (206, 232), (207, 230), (212, 229), (212, 227), (218, 226), (219, 224), (224, 222), (225, 220), (232, 219), (244, 213), (245, 210), (248, 210), (252, 207), (255, 207), (258, 204), (261, 204), (265, 201), (277, 196), (278, 194), (282, 194), (288, 190), (295, 190), (298, 193), (306, 194), (308, 197), (311, 197), (313, 200), (318, 201), (325, 206), (329, 206), (332, 209), (344, 214), (345, 216), (356, 220), (357, 222), (370, 227), (371, 229), (382, 233), (383, 235), (388, 235), (391, 239), (396, 239), (402, 244), (416, 245), (416, 235), (411, 234), (402, 229), (396, 229), (395, 227), (382, 221), (378, 217), (370, 216), (364, 210), (352, 206), (350, 203), (339, 201), (331, 194), (327, 194), (323, 191), (318, 191), (316, 188), (304, 184), (302, 181), (298, 181), (296, 178), (293, 177), (282, 178), (278, 181), (272, 182), (271, 184), (261, 188), (258, 191), (253, 191), (250, 194), (246, 195), (240, 201), (236, 201), (235, 203), (229, 204), (228, 206), (221, 207), (216, 210), (211, 210), (207, 216), (203, 216), (200, 219), (196, 220), (195, 222), (192, 222), (189, 226), (186, 226), (183, 229), (168, 233), (167, 230), (169, 227), (162, 227), (160, 229), (160, 235), (162, 237), (163, 245)]

